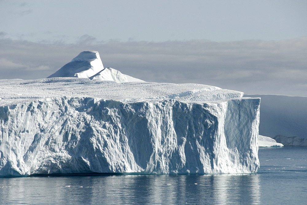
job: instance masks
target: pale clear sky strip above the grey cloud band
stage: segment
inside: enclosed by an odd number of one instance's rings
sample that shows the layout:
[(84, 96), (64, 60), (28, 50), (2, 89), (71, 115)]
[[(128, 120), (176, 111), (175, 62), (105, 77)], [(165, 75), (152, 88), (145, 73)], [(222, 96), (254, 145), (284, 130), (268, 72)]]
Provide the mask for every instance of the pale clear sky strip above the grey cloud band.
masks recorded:
[(306, 35), (302, 1), (1, 1), (0, 28), (13, 39), (75, 43), (208, 39), (282, 40)]

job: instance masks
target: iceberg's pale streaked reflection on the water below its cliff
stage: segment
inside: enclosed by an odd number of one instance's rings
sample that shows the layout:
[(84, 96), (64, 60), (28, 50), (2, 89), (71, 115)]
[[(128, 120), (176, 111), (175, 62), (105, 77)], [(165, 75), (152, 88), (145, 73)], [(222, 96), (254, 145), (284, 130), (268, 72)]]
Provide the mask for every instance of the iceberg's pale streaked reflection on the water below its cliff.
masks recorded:
[(259, 204), (257, 174), (0, 178), (0, 201), (28, 204)]

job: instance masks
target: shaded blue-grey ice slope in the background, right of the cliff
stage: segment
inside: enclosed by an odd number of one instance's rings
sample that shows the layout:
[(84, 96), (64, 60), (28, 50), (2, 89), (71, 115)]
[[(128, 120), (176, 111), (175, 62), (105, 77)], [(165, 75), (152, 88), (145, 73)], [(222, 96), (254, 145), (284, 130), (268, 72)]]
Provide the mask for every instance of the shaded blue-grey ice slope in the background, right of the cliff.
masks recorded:
[[(307, 97), (289, 95), (244, 96), (261, 97), (260, 135), (274, 138), (283, 145), (307, 145), (305, 143), (307, 141)], [(275, 137), (277, 135), (282, 135), (282, 137)]]

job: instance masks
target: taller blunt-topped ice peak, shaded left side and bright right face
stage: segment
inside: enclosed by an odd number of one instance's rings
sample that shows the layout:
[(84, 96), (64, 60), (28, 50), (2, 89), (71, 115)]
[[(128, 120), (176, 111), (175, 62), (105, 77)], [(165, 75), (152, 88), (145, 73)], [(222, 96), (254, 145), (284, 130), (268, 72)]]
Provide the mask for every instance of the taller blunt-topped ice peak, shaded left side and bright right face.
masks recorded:
[(78, 77), (88, 78), (104, 69), (97, 51), (83, 51), (71, 62), (64, 65), (58, 71), (48, 76), (53, 77)]

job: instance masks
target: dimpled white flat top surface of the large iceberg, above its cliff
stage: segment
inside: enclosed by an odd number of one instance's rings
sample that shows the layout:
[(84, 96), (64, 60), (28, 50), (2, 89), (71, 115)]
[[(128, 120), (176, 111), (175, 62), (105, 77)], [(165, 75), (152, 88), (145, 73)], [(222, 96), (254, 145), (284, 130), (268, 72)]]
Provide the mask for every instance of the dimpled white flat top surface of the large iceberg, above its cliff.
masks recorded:
[(93, 97), (121, 102), (160, 101), (161, 99), (201, 102), (241, 98), (243, 92), (202, 84), (116, 83), (74, 77), (0, 80), (0, 106), (63, 96)]

